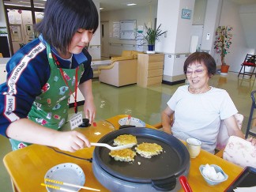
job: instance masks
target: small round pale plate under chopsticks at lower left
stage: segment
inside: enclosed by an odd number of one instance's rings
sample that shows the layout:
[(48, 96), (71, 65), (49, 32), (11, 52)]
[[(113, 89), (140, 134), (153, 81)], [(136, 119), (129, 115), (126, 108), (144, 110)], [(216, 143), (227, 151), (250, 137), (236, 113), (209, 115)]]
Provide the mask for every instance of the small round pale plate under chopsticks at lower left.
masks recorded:
[[(85, 173), (77, 165), (72, 163), (58, 164), (55, 167), (49, 169), (47, 174), (44, 176), (44, 179), (53, 179), (57, 181), (62, 181), (64, 183), (72, 183), (74, 185), (84, 186), (85, 185)], [(45, 182), (45, 184), (61, 186), (66, 189), (78, 191), (80, 188), (72, 186), (63, 186), (55, 183)], [(46, 187), (48, 192), (57, 192), (59, 190), (51, 189)]]

